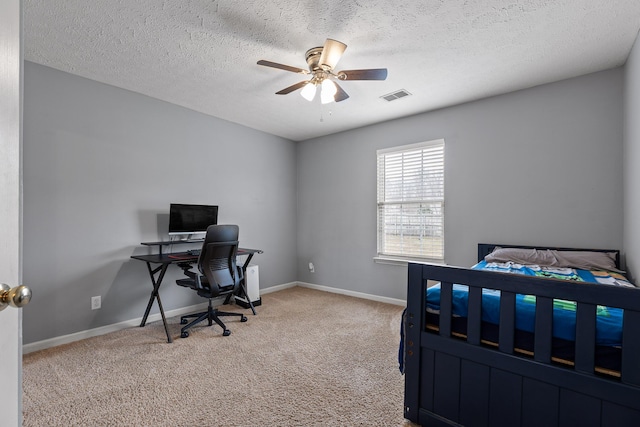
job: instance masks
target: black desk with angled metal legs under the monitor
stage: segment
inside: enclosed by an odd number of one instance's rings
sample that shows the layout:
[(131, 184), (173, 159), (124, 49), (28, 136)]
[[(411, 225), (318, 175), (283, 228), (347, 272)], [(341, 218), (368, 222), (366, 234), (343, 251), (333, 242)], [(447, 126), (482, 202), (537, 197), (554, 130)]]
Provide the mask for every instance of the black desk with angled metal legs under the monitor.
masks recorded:
[[(159, 246), (162, 248), (163, 245), (173, 244), (176, 242), (150, 242), (143, 243), (143, 245), (147, 246)], [(197, 243), (197, 241), (183, 241), (181, 243)], [(242, 270), (246, 273), (247, 267), (249, 266), (249, 262), (251, 262), (251, 258), (255, 254), (261, 254), (262, 251), (260, 249), (246, 249), (246, 248), (238, 248), (237, 256), (247, 256), (244, 264), (242, 265)], [(168, 253), (163, 254), (162, 249), (160, 249), (160, 253), (151, 254), (151, 255), (132, 255), (131, 258), (137, 259), (140, 261), (144, 261), (147, 263), (147, 269), (149, 270), (149, 277), (151, 278), (151, 284), (153, 285), (153, 290), (151, 291), (151, 296), (149, 297), (149, 302), (147, 303), (147, 309), (144, 312), (144, 316), (142, 317), (142, 322), (140, 322), (140, 327), (143, 327), (147, 323), (147, 318), (149, 317), (149, 312), (151, 311), (151, 306), (153, 305), (153, 301), (158, 301), (158, 308), (160, 309), (160, 315), (162, 316), (162, 323), (164, 324), (164, 331), (167, 334), (167, 341), (173, 342), (171, 339), (171, 335), (169, 335), (169, 328), (167, 327), (167, 319), (164, 316), (164, 309), (162, 308), (162, 301), (160, 300), (160, 294), (158, 290), (160, 289), (160, 285), (162, 284), (162, 279), (164, 278), (164, 274), (167, 272), (167, 268), (171, 264), (179, 264), (179, 263), (195, 263), (198, 261), (198, 255), (191, 255), (189, 252), (176, 252), (176, 253)], [(247, 294), (247, 285), (243, 280), (240, 284), (240, 288), (244, 293), (244, 296), (249, 301), (249, 296)], [(229, 302), (229, 298), (225, 300), (225, 304)], [(253, 314), (256, 314), (256, 310), (249, 301), (251, 306), (251, 311)]]

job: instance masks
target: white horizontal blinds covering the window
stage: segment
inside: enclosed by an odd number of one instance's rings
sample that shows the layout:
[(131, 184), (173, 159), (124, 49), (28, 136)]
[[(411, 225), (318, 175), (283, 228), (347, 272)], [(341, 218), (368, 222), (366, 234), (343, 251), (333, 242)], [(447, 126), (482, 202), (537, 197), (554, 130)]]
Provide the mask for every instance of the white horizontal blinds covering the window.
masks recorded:
[(444, 259), (444, 140), (378, 150), (378, 255)]

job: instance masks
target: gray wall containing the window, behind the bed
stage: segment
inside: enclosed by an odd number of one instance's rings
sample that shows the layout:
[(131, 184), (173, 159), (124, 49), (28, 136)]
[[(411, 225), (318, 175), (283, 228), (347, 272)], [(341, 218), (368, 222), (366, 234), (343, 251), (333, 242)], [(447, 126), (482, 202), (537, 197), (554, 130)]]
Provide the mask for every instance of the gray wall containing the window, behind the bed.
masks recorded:
[(448, 264), (478, 242), (620, 248), (622, 91), (614, 69), (299, 143), (298, 280), (405, 298), (406, 266), (373, 261), (376, 150), (437, 138)]

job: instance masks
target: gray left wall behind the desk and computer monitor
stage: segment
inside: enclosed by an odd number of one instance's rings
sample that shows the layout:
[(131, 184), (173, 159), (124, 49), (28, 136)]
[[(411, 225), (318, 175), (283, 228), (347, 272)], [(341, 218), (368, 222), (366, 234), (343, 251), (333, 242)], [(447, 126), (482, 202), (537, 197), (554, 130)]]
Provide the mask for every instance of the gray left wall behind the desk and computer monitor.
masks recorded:
[[(218, 204), (241, 246), (264, 250), (262, 288), (295, 281), (295, 156), (291, 141), (26, 62), (24, 343), (141, 317), (151, 284), (129, 257), (168, 239), (171, 202)], [(165, 277), (165, 310), (202, 302), (180, 276)]]

